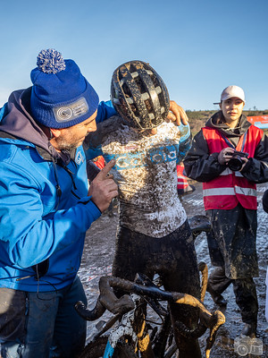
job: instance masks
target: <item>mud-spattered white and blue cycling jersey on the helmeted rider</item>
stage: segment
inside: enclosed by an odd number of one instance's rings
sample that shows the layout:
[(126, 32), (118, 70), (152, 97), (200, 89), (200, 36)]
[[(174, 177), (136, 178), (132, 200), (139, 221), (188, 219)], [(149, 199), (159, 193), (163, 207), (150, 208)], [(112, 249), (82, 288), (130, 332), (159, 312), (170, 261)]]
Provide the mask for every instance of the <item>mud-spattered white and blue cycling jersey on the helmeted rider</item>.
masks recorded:
[(176, 166), (190, 146), (188, 125), (163, 123), (148, 136), (113, 116), (99, 124), (86, 143), (88, 158), (101, 154), (106, 162), (116, 160), (111, 174), (119, 185), (121, 226), (163, 237), (185, 222)]

